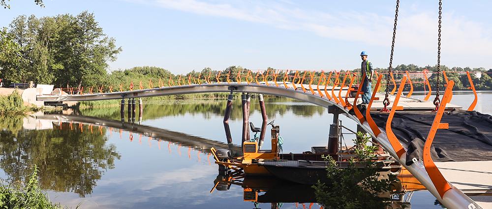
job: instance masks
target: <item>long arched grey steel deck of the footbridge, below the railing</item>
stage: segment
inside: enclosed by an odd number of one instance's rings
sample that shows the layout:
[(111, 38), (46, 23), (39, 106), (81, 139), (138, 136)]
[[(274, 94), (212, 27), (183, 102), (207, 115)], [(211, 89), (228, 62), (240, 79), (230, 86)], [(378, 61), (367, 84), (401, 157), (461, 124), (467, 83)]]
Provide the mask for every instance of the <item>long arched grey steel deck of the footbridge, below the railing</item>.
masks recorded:
[[(355, 79), (354, 79), (355, 80)], [(378, 84), (376, 85), (376, 89), (379, 88), (379, 82), (381, 80), (381, 76), (379, 76)], [(432, 110), (434, 105), (431, 102), (401, 97), (401, 91), (403, 90), (402, 86), (404, 86), (405, 82), (401, 82), (400, 90), (396, 96), (391, 95), (390, 101), (395, 103), (395, 99), (397, 100), (399, 106), (403, 106), (405, 111), (408, 110)], [(288, 84), (289, 86), (291, 84)], [(402, 152), (406, 152), (399, 142), (395, 144), (395, 139), (389, 140), (387, 131), (374, 127), (371, 128), (368, 121), (364, 119), (364, 116), (361, 116), (360, 113), (357, 116), (349, 114), (349, 110), (351, 109), (351, 105), (354, 103), (354, 98), (349, 98), (350, 92), (355, 91), (352, 88), (336, 88), (325, 86), (324, 88), (320, 88), (319, 84), (315, 85), (302, 85), (292, 84), (293, 88), (287, 86), (286, 83), (283, 85), (278, 85), (275, 82), (262, 82), (262, 83), (251, 83), (251, 82), (230, 82), (230, 83), (206, 83), (206, 84), (189, 84), (189, 85), (181, 85), (181, 86), (172, 86), (172, 87), (161, 87), (161, 88), (153, 88), (153, 89), (141, 89), (141, 90), (129, 90), (129, 91), (121, 91), (121, 92), (109, 92), (109, 93), (92, 93), (92, 94), (83, 94), (83, 95), (39, 95), (37, 96), (38, 101), (47, 101), (47, 102), (60, 102), (60, 101), (92, 101), (92, 100), (107, 100), (107, 99), (122, 99), (122, 98), (138, 98), (138, 97), (152, 97), (152, 96), (165, 96), (165, 95), (177, 95), (177, 94), (190, 94), (190, 93), (208, 93), (208, 92), (230, 92), (233, 90), (234, 92), (248, 92), (248, 93), (262, 93), (276, 96), (289, 97), (301, 101), (305, 101), (308, 103), (312, 103), (315, 105), (319, 105), (322, 107), (336, 106), (340, 110), (344, 112), (344, 114), (356, 121), (362, 128), (364, 128), (368, 133), (370, 133), (376, 141), (393, 157), (398, 159), (400, 163), (405, 166), (408, 171), (410, 171), (420, 182), (426, 186), (426, 188), (436, 197), (439, 202), (444, 204), (447, 208), (450, 209), (478, 209), (482, 208), (473, 200), (471, 200), (468, 196), (463, 194), (463, 192), (454, 187), (452, 184), (445, 181), (446, 185), (449, 185), (450, 188), (441, 188), (438, 184), (432, 181), (435, 179), (437, 175), (431, 173), (428, 174), (426, 170), (426, 166), (422, 160), (418, 160), (417, 162), (411, 164), (410, 166), (405, 165), (405, 154)], [(306, 87), (307, 86), (307, 87)], [(350, 85), (351, 86), (351, 85)], [(449, 86), (449, 85), (448, 85)], [(330, 93), (331, 92), (331, 93)], [(358, 92), (360, 93), (360, 91)], [(357, 97), (357, 96), (356, 96)], [(382, 108), (382, 98), (383, 94), (375, 93), (373, 94), (371, 103), (371, 110), (373, 109), (381, 109)], [(398, 101), (400, 100), (400, 101)], [(449, 102), (449, 101), (448, 101)], [(444, 102), (443, 102), (444, 103)], [(397, 106), (394, 106), (396, 110)], [(461, 108), (456, 105), (447, 105), (441, 108), (444, 111), (445, 108)], [(355, 110), (356, 108), (354, 108)], [(357, 112), (356, 112), (357, 113)], [(440, 119), (439, 119), (440, 120)], [(391, 125), (390, 125), (391, 126)], [(377, 133), (375, 133), (377, 132)], [(394, 135), (393, 135), (394, 136)], [(426, 159), (423, 157), (423, 159)], [(435, 166), (434, 166), (435, 167)], [(436, 168), (437, 169), (437, 168)], [(441, 176), (442, 178), (442, 176)]]

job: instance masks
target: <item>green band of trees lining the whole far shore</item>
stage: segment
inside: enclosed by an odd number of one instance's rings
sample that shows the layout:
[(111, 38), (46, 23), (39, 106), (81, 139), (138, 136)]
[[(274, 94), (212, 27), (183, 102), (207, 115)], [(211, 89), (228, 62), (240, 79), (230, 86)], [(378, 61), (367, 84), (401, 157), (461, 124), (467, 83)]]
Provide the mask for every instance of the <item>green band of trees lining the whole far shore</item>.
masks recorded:
[[(247, 75), (248, 69), (241, 66), (230, 66), (224, 70), (213, 70), (204, 68), (200, 71), (191, 71), (186, 74), (173, 74), (168, 70), (159, 67), (133, 67), (108, 72), (108, 61), (117, 59), (117, 55), (122, 51), (121, 47), (116, 46), (116, 41), (108, 37), (95, 21), (94, 14), (87, 11), (76, 16), (70, 14), (57, 15), (53, 17), (37, 18), (34, 15), (29, 17), (19, 16), (15, 18), (8, 28), (0, 30), (0, 79), (8, 85), (11, 82), (29, 83), (33, 81), (38, 84), (54, 84), (55, 87), (71, 87), (78, 89), (84, 87), (87, 92), (92, 87), (94, 92), (98, 87), (102, 87), (103, 92), (128, 90), (130, 83), (133, 88), (138, 89), (140, 84), (147, 89), (149, 87), (169, 86), (187, 84), (188, 82), (197, 83), (252, 81), (256, 78), (256, 72)], [(358, 64), (358, 61), (356, 61)], [(428, 69), (429, 72), (436, 71), (436, 66), (417, 66), (414, 64), (398, 65), (395, 71), (404, 72), (422, 72)], [(278, 82), (284, 81), (286, 71), (276, 71), (268, 68), (268, 80), (274, 79)], [(350, 71), (359, 71), (354, 69)], [(387, 69), (377, 68), (378, 72), (387, 72)], [(472, 74), (473, 82), (477, 90), (492, 90), (492, 79), (485, 68), (448, 68), (442, 66), (441, 70), (447, 72), (449, 79), (455, 81), (456, 90), (465, 90), (469, 87), (468, 78), (464, 71), (484, 72), (480, 78)], [(220, 73), (220, 77), (216, 77)], [(239, 73), (239, 76), (238, 76)], [(305, 77), (304, 83), (317, 85), (324, 84), (325, 81), (318, 82), (321, 72), (301, 71), (297, 76)], [(327, 74), (327, 73), (326, 73)], [(210, 75), (210, 77), (209, 77)], [(229, 76), (227, 76), (229, 75)], [(288, 81), (292, 81), (295, 71), (289, 71)], [(311, 76), (313, 81), (311, 81)], [(344, 74), (341, 74), (340, 80)], [(395, 74), (395, 79), (400, 80), (403, 74)], [(429, 80), (432, 89), (435, 90), (437, 74), (429, 73)], [(444, 78), (440, 75), (441, 84), (444, 84)], [(200, 80), (197, 80), (200, 77)], [(171, 78), (171, 80), (170, 80)], [(181, 79), (180, 79), (181, 78)], [(258, 76), (263, 80), (263, 75)], [(302, 79), (301, 79), (302, 80)], [(375, 83), (374, 79), (373, 83)], [(331, 79), (333, 83), (334, 79)], [(414, 90), (425, 90), (422, 78), (412, 78), (415, 83)], [(420, 82), (420, 83), (419, 83)], [(345, 83), (350, 83), (347, 79)], [(357, 84), (358, 81), (354, 81)], [(406, 86), (408, 89), (409, 86)], [(443, 89), (444, 85), (440, 85)], [(384, 89), (384, 88), (382, 88)]]

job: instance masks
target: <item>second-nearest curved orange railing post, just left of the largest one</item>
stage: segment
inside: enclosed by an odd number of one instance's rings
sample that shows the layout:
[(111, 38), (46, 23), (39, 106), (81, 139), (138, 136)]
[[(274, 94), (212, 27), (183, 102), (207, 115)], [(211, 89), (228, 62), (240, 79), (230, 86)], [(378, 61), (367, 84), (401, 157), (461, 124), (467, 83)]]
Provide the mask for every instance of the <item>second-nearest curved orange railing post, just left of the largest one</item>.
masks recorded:
[(388, 137), (388, 141), (390, 141), (391, 147), (393, 147), (399, 158), (401, 158), (401, 155), (405, 153), (405, 149), (403, 149), (403, 147), (400, 144), (400, 141), (398, 141), (397, 137), (393, 133), (393, 130), (391, 129), (391, 122), (393, 121), (395, 112), (397, 110), (403, 109), (403, 107), (398, 106), (398, 101), (400, 100), (401, 92), (405, 87), (405, 82), (406, 82), (406, 76), (403, 76), (403, 78), (401, 79), (400, 88), (398, 89), (397, 95), (395, 97), (395, 101), (393, 101), (393, 107), (391, 108), (390, 115), (388, 115), (388, 119), (386, 120), (386, 136)]

